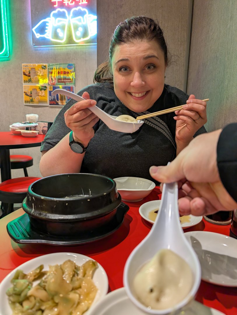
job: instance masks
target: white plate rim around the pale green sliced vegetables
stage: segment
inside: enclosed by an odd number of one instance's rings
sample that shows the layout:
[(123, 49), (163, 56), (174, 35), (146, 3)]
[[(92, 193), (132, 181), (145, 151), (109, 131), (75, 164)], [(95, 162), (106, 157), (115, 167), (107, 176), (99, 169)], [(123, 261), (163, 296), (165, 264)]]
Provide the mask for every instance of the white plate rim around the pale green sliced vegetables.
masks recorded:
[[(75, 261), (77, 265), (82, 265), (84, 262), (90, 260), (91, 258), (85, 255), (76, 254), (76, 253), (53, 253), (48, 255), (42, 255), (36, 258), (31, 259), (30, 261), (26, 261), (24, 264), (20, 265), (19, 267), (15, 268), (12, 272), (10, 272), (1, 282), (0, 284), (0, 296), (2, 302), (0, 303), (0, 315), (11, 315), (12, 311), (8, 304), (8, 298), (6, 295), (6, 291), (8, 288), (12, 286), (11, 279), (14, 276), (14, 273), (17, 269), (23, 270), (23, 272), (27, 273), (31, 270), (34, 270), (39, 265), (44, 265), (44, 270), (48, 270), (48, 265), (56, 265), (56, 264), (62, 264), (64, 261), (71, 259), (72, 261)], [(94, 276), (93, 276), (93, 282), (98, 288), (98, 292), (96, 294), (95, 300), (93, 301), (93, 304), (101, 298), (106, 295), (108, 292), (108, 277), (104, 270), (104, 268), (98, 263), (98, 268), (96, 269)], [(85, 312), (84, 314), (87, 314)]]

